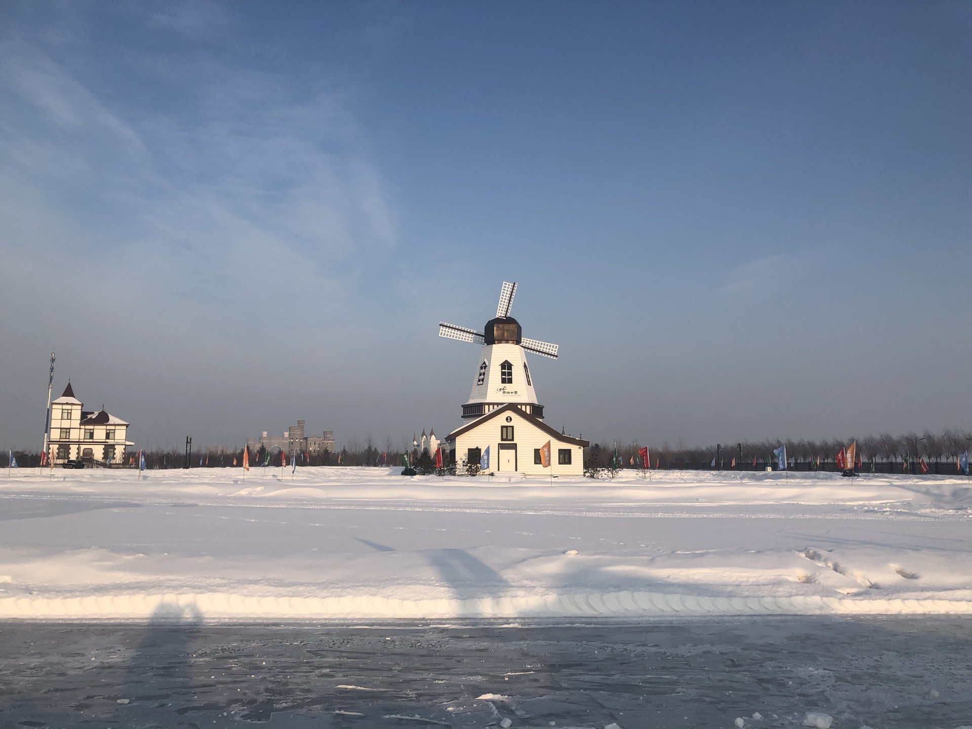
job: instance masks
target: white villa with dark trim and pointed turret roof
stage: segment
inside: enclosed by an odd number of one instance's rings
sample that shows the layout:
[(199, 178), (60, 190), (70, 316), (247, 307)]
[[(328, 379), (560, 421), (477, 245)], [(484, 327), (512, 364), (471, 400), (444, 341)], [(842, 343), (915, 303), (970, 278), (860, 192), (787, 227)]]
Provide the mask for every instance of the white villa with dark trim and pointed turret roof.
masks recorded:
[(123, 464), (125, 448), (134, 445), (125, 440), (129, 423), (105, 410), (84, 409), (74, 397), (71, 383), (64, 394), (51, 403), (51, 437), (48, 457), (52, 464), (84, 461), (88, 465)]

